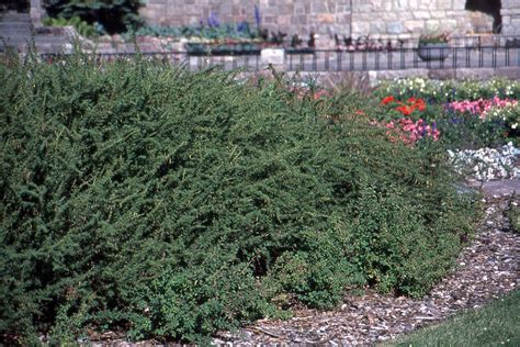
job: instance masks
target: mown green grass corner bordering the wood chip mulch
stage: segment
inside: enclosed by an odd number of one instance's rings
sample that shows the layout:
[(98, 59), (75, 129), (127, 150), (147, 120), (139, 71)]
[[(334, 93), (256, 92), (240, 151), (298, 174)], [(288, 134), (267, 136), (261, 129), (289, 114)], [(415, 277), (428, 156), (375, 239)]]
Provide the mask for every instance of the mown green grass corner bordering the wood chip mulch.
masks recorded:
[(520, 346), (520, 291), (384, 346)]

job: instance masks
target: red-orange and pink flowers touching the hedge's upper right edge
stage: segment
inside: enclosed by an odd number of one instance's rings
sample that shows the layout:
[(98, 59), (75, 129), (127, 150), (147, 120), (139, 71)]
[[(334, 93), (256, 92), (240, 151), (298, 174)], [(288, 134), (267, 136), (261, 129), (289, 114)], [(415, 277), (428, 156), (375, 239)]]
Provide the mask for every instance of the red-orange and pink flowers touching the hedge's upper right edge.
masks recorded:
[[(396, 100), (393, 96), (384, 98), (381, 103), (389, 105), (393, 110), (399, 112), (403, 116), (387, 122), (384, 126), (388, 130), (386, 135), (392, 142), (402, 141), (404, 144), (412, 145), (423, 137), (430, 137), (438, 141), (440, 132), (433, 122), (428, 124), (423, 119), (414, 121), (409, 117), (414, 112), (423, 112), (426, 102), (422, 99), (409, 98), (406, 102)], [(381, 125), (380, 123), (375, 123)]]

